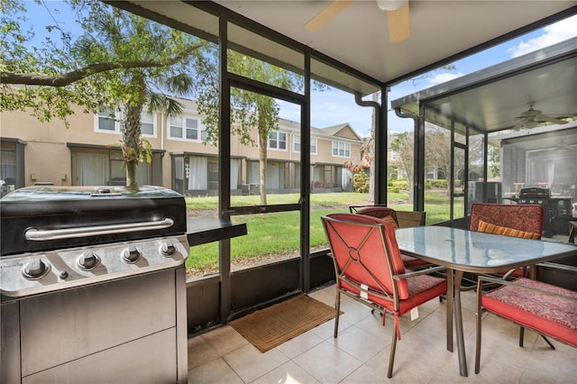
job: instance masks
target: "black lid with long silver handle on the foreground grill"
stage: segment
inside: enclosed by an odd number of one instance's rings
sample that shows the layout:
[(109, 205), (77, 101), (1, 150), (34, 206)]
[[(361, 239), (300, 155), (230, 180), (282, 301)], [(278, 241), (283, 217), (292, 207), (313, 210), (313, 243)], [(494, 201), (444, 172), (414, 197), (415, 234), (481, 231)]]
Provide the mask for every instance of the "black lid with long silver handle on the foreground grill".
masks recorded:
[(187, 231), (186, 202), (163, 187), (25, 187), (0, 199), (0, 255)]

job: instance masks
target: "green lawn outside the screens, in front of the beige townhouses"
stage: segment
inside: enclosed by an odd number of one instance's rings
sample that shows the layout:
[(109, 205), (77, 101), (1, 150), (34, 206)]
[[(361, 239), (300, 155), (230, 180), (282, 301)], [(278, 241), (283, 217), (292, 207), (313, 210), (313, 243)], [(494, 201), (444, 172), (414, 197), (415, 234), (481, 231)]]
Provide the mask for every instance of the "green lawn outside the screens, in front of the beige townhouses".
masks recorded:
[[(367, 194), (329, 193), (310, 196), (310, 247), (316, 249), (327, 246), (325, 232), (320, 217), (334, 212), (349, 212), (348, 206), (367, 205)], [(298, 194), (269, 195), (269, 205), (298, 202)], [(233, 206), (258, 206), (260, 197), (256, 195), (232, 197)], [(411, 211), (412, 204), (407, 194), (389, 194), (390, 206), (402, 211)], [(455, 205), (456, 206), (456, 205)], [(216, 211), (217, 197), (187, 197), (189, 211)], [(457, 215), (458, 216), (458, 215)], [(247, 234), (232, 239), (232, 261), (253, 259), (268, 255), (294, 254), (300, 249), (299, 212), (281, 212), (266, 215), (236, 215), (234, 222), (246, 223)], [(449, 217), (449, 198), (444, 192), (426, 193), (427, 223), (439, 222)], [(215, 269), (218, 264), (218, 242), (192, 247), (187, 259), (187, 268), (192, 270)]]

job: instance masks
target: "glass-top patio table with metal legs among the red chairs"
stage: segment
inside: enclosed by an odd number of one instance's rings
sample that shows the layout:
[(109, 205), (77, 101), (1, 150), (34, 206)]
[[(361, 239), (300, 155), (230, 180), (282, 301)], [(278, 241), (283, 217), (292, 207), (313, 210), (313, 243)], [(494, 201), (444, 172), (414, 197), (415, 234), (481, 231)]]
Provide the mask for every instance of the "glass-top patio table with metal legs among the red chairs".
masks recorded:
[(454, 313), (461, 376), (468, 376), (461, 310), (463, 272), (502, 272), (565, 256), (577, 256), (577, 246), (569, 243), (543, 242), (444, 226), (399, 228), (395, 233), (400, 251), (447, 268), (447, 350), (453, 351)]

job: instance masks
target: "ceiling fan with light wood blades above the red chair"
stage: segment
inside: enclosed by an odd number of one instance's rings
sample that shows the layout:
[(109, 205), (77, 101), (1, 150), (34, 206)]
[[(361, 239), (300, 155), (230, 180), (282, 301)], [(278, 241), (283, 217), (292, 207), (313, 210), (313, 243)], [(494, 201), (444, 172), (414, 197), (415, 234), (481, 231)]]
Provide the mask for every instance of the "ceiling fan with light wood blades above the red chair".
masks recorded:
[[(330, 22), (334, 16), (351, 5), (354, 0), (333, 0), (326, 5), (321, 12), (315, 15), (306, 25), (308, 32), (315, 32), (321, 29), (325, 23)], [(376, 0), (377, 5), (387, 12), (387, 22), (389, 24), (389, 41), (396, 43), (407, 40), (411, 34), (410, 17), (408, 14), (408, 0)]]

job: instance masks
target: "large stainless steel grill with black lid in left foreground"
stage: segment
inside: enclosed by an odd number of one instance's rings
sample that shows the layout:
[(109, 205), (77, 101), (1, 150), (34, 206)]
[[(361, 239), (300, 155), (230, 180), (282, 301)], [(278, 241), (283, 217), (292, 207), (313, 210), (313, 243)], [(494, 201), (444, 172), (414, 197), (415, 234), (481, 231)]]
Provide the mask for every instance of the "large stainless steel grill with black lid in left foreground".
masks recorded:
[(160, 187), (0, 199), (0, 379), (186, 382), (186, 204)]

